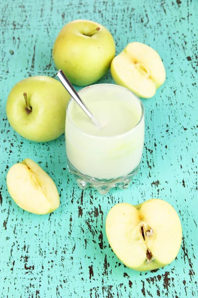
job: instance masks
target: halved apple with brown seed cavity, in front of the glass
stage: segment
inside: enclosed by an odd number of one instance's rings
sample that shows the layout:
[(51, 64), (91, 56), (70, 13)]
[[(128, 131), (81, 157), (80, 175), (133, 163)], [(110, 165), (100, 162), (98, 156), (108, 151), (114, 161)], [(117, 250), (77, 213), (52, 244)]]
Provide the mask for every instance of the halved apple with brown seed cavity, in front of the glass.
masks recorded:
[(147, 271), (171, 263), (182, 241), (182, 227), (175, 209), (151, 199), (140, 205), (117, 204), (106, 218), (109, 244), (126, 266)]

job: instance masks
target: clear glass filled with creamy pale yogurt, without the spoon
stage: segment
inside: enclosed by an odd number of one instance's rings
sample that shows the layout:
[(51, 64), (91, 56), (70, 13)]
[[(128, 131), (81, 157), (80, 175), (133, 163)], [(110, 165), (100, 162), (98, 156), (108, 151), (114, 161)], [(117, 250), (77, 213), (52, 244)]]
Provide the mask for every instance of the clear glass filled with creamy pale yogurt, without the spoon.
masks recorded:
[(127, 188), (140, 168), (143, 153), (142, 101), (127, 88), (114, 84), (91, 85), (78, 93), (102, 128), (70, 99), (65, 125), (69, 172), (82, 189), (95, 187), (100, 194), (112, 187)]

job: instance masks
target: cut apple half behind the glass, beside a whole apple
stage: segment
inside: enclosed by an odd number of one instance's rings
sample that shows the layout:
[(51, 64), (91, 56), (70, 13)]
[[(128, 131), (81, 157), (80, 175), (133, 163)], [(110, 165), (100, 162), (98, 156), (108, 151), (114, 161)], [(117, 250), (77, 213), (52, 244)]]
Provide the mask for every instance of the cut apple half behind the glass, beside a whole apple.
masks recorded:
[(129, 43), (111, 63), (114, 81), (143, 98), (152, 97), (166, 78), (164, 65), (155, 50), (140, 43)]

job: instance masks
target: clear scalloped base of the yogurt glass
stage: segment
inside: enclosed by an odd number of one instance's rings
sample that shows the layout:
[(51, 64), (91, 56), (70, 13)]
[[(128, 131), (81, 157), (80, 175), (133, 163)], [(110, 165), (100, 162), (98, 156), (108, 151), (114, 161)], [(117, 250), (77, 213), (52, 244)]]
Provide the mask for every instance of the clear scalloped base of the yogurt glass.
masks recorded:
[(69, 172), (76, 178), (80, 188), (86, 189), (87, 187), (94, 187), (98, 190), (100, 195), (105, 195), (113, 187), (126, 189), (130, 185), (133, 177), (138, 173), (140, 169), (140, 163), (131, 173), (122, 177), (112, 179), (98, 179), (85, 175), (79, 172), (68, 159), (67, 167)]

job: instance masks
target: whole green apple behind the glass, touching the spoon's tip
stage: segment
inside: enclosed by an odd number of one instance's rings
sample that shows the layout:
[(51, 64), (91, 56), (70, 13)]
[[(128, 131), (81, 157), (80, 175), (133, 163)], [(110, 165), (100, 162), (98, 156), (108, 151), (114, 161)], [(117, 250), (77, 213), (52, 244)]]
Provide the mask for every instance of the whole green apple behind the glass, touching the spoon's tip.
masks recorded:
[(90, 85), (109, 70), (115, 57), (111, 33), (99, 23), (75, 20), (59, 32), (53, 46), (53, 60), (71, 83)]

